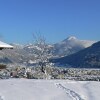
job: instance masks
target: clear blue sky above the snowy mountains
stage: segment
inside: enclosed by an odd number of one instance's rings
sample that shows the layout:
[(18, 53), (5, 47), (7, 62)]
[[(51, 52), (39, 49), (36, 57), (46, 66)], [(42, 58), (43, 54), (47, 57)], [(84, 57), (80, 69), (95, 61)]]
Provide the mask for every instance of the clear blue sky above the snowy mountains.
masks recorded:
[(0, 0), (0, 39), (26, 44), (33, 33), (51, 43), (100, 40), (100, 0)]

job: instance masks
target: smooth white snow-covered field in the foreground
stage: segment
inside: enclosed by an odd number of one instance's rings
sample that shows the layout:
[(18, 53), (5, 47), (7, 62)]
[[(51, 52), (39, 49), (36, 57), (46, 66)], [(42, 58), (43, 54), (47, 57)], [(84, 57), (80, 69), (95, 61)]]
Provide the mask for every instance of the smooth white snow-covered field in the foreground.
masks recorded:
[(99, 97), (99, 82), (0, 80), (0, 100), (100, 100)]

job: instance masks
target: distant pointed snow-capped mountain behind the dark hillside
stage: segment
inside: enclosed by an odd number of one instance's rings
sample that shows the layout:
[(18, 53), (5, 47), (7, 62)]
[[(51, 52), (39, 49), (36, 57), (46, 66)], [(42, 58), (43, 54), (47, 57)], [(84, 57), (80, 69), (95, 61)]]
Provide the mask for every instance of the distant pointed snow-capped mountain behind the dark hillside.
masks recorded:
[(67, 56), (87, 48), (95, 42), (96, 41), (79, 40), (75, 36), (71, 36), (54, 44), (53, 54), (58, 57)]

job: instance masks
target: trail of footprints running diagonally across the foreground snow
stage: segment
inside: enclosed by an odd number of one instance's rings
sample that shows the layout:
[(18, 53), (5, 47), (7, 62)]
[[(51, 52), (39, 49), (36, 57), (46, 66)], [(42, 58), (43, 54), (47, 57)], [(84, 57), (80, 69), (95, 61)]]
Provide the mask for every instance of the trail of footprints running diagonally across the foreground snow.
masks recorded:
[(72, 100), (84, 100), (84, 99), (81, 98), (81, 96), (78, 93), (64, 87), (62, 84), (57, 83), (56, 86), (63, 89), (72, 98)]

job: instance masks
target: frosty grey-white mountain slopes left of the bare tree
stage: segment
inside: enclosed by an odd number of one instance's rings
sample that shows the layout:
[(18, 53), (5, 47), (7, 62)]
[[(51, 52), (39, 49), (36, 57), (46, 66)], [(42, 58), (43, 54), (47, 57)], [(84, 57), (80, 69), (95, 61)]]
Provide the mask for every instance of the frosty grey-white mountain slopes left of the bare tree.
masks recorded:
[[(12, 45), (13, 49), (0, 50), (0, 63), (32, 65), (39, 61), (38, 54), (41, 51), (41, 48), (39, 48), (37, 45)], [(47, 45), (47, 47), (49, 50), (51, 50), (52, 45)]]

